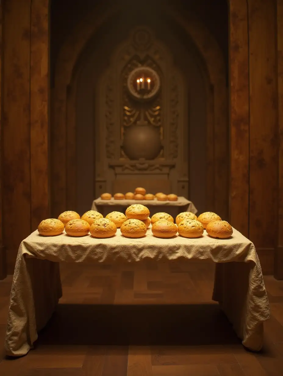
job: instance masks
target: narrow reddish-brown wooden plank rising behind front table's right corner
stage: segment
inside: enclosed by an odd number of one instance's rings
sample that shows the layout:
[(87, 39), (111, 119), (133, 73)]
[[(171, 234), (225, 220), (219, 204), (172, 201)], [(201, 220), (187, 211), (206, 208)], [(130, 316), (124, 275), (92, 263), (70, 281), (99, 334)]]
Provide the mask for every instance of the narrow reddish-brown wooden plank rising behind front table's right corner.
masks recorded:
[(249, 236), (249, 83), (246, 0), (230, 2), (230, 222)]

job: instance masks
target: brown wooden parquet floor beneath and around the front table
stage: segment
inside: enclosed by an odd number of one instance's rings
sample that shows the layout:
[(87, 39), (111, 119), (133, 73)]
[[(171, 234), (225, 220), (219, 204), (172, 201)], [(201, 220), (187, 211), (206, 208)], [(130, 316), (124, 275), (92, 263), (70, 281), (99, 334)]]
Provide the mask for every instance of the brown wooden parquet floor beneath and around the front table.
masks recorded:
[(283, 281), (265, 277), (272, 317), (263, 350), (251, 353), (211, 300), (213, 275), (204, 262), (64, 264), (63, 297), (35, 349), (6, 359), (9, 276), (0, 281), (0, 375), (282, 376)]

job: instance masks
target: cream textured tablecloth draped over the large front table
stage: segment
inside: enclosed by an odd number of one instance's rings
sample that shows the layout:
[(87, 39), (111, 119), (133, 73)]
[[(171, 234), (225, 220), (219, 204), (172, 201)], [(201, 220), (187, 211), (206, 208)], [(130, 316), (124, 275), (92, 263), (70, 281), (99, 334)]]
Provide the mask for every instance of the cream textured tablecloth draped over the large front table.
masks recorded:
[(22, 241), (15, 265), (6, 331), (6, 354), (25, 355), (50, 319), (62, 296), (58, 262), (138, 262), (177, 258), (216, 262), (213, 300), (218, 301), (242, 344), (260, 350), (263, 321), (269, 318), (268, 297), (255, 247), (234, 230), (227, 240), (204, 235), (198, 239), (152, 235), (128, 239), (117, 234), (109, 239), (91, 235), (72, 238), (63, 233), (41, 237), (37, 231)]

